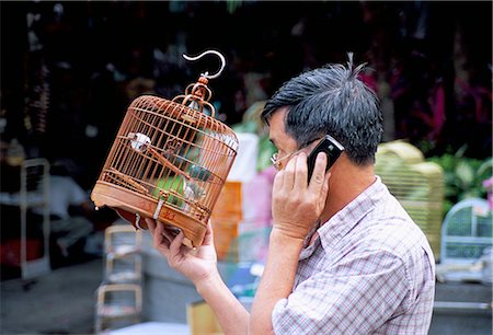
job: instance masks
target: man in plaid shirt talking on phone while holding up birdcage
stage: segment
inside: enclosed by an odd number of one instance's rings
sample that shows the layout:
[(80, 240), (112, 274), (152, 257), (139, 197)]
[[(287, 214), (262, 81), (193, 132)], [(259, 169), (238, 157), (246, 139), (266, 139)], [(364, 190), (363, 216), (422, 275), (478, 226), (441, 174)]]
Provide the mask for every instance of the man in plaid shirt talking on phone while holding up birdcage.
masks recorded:
[[(221, 280), (213, 231), (196, 251), (148, 220), (154, 246), (188, 277), (226, 334), (426, 334), (435, 262), (425, 235), (374, 174), (382, 135), (363, 69), (331, 65), (286, 82), (262, 118), (278, 149), (268, 255), (251, 313)], [(330, 135), (345, 147), (325, 173), (307, 155)], [(210, 224), (209, 224), (210, 226)]]

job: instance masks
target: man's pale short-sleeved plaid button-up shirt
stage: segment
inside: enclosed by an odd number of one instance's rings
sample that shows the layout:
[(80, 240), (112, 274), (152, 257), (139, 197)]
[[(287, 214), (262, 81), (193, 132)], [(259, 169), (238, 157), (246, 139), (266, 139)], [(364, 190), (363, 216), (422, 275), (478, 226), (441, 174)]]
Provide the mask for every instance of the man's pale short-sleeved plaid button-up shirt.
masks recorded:
[(276, 334), (427, 334), (433, 253), (379, 177), (317, 233), (274, 308)]

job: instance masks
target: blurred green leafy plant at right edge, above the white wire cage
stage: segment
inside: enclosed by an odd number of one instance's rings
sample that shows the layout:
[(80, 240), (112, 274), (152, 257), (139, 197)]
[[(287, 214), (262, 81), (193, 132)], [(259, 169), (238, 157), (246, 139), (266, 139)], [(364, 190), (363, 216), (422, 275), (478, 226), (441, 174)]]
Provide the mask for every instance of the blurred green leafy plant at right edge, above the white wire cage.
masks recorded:
[(444, 212), (448, 212), (462, 199), (486, 197), (486, 189), (482, 183), (492, 176), (493, 159), (491, 157), (484, 160), (467, 158), (466, 150), (467, 146), (463, 146), (456, 153), (428, 158), (428, 161), (444, 169)]

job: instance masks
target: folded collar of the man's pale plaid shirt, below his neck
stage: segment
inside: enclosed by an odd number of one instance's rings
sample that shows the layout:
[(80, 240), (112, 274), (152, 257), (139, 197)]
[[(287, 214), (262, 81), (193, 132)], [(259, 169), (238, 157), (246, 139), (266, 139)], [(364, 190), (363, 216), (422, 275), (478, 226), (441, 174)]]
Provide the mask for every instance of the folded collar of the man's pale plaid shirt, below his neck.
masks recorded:
[(334, 247), (388, 192), (379, 176), (359, 194), (353, 201), (336, 212), (329, 221), (318, 229), (318, 233), (325, 251)]

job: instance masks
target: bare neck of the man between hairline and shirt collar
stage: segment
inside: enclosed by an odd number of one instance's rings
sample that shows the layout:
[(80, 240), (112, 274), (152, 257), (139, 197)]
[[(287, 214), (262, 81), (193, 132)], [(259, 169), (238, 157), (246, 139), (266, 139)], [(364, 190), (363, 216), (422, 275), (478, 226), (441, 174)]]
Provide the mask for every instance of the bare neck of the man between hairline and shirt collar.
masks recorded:
[(331, 170), (326, 205), (320, 216), (322, 224), (367, 189), (375, 178), (374, 165), (357, 166), (341, 157)]

